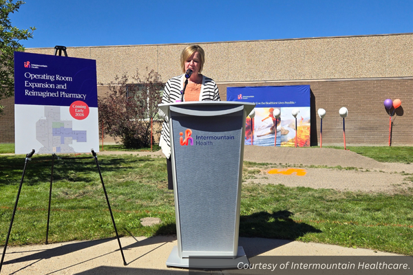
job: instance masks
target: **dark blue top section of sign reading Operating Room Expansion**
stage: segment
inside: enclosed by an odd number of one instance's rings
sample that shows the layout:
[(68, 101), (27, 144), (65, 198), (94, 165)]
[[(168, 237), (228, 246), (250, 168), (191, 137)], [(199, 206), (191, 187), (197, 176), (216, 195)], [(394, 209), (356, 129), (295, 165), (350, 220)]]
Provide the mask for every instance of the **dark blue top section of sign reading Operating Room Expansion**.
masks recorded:
[(96, 61), (14, 52), (14, 104), (98, 107)]

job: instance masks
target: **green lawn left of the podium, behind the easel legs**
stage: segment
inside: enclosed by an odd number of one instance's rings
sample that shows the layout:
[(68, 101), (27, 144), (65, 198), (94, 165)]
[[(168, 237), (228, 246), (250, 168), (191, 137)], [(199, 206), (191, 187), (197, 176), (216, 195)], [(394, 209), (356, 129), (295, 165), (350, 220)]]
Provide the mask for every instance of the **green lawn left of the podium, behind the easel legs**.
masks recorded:
[[(98, 157), (120, 234), (152, 236), (175, 229), (173, 194), (167, 192), (165, 159), (131, 155)], [(51, 160), (28, 162), (10, 237), (10, 245), (45, 240)], [(2, 156), (0, 166), (0, 239), (6, 240), (24, 159)], [(143, 217), (159, 217), (161, 226), (143, 227)], [(54, 164), (50, 242), (114, 236), (94, 159), (61, 159)], [(169, 226), (171, 224), (171, 226)]]

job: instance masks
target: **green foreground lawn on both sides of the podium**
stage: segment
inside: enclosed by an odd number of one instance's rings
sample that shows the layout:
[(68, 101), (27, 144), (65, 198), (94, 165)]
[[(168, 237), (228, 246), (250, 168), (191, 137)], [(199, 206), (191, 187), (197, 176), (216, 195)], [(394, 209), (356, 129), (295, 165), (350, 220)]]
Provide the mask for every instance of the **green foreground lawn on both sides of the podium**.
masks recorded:
[[(102, 155), (98, 159), (121, 236), (176, 234), (173, 193), (167, 190), (164, 158)], [(0, 156), (0, 243), (6, 241), (23, 165), (21, 155)], [(28, 163), (9, 245), (45, 241), (50, 166), (51, 160), (40, 155)], [(114, 236), (93, 159), (55, 161), (53, 182), (50, 243)], [(412, 198), (412, 190), (372, 195), (245, 184), (240, 236), (413, 255)], [(140, 224), (144, 217), (158, 217), (162, 223), (144, 227)]]

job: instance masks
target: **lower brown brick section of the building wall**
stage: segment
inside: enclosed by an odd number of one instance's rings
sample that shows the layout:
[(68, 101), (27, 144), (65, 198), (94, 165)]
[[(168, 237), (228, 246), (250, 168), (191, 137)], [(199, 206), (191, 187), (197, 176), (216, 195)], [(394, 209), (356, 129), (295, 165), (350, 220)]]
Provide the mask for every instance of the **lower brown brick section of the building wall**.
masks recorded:
[[(273, 83), (231, 83), (218, 84), (222, 100), (226, 100), (226, 87), (244, 86), (310, 85), (315, 98), (312, 106), (313, 145), (319, 144), (320, 119), (317, 109), (326, 109), (323, 120), (323, 144), (343, 144), (343, 120), (339, 109), (348, 109), (346, 118), (346, 143), (348, 145), (387, 145), (389, 115), (383, 106), (385, 98), (401, 99), (401, 107), (396, 110), (393, 121), (392, 145), (413, 145), (413, 79), (374, 80), (319, 80)], [(107, 86), (98, 86), (98, 95), (107, 93)], [(14, 142), (14, 99), (2, 100), (6, 105), (0, 116), (0, 142)], [(159, 139), (156, 136), (156, 141)], [(113, 143), (112, 137), (105, 136), (104, 142)]]

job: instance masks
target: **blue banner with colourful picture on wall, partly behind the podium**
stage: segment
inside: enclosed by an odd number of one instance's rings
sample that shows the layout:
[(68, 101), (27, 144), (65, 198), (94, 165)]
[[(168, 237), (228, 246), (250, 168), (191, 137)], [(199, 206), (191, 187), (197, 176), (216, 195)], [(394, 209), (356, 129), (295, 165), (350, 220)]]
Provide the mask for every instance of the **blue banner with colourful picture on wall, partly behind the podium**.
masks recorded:
[(310, 146), (310, 85), (228, 87), (226, 99), (255, 103), (245, 144)]

